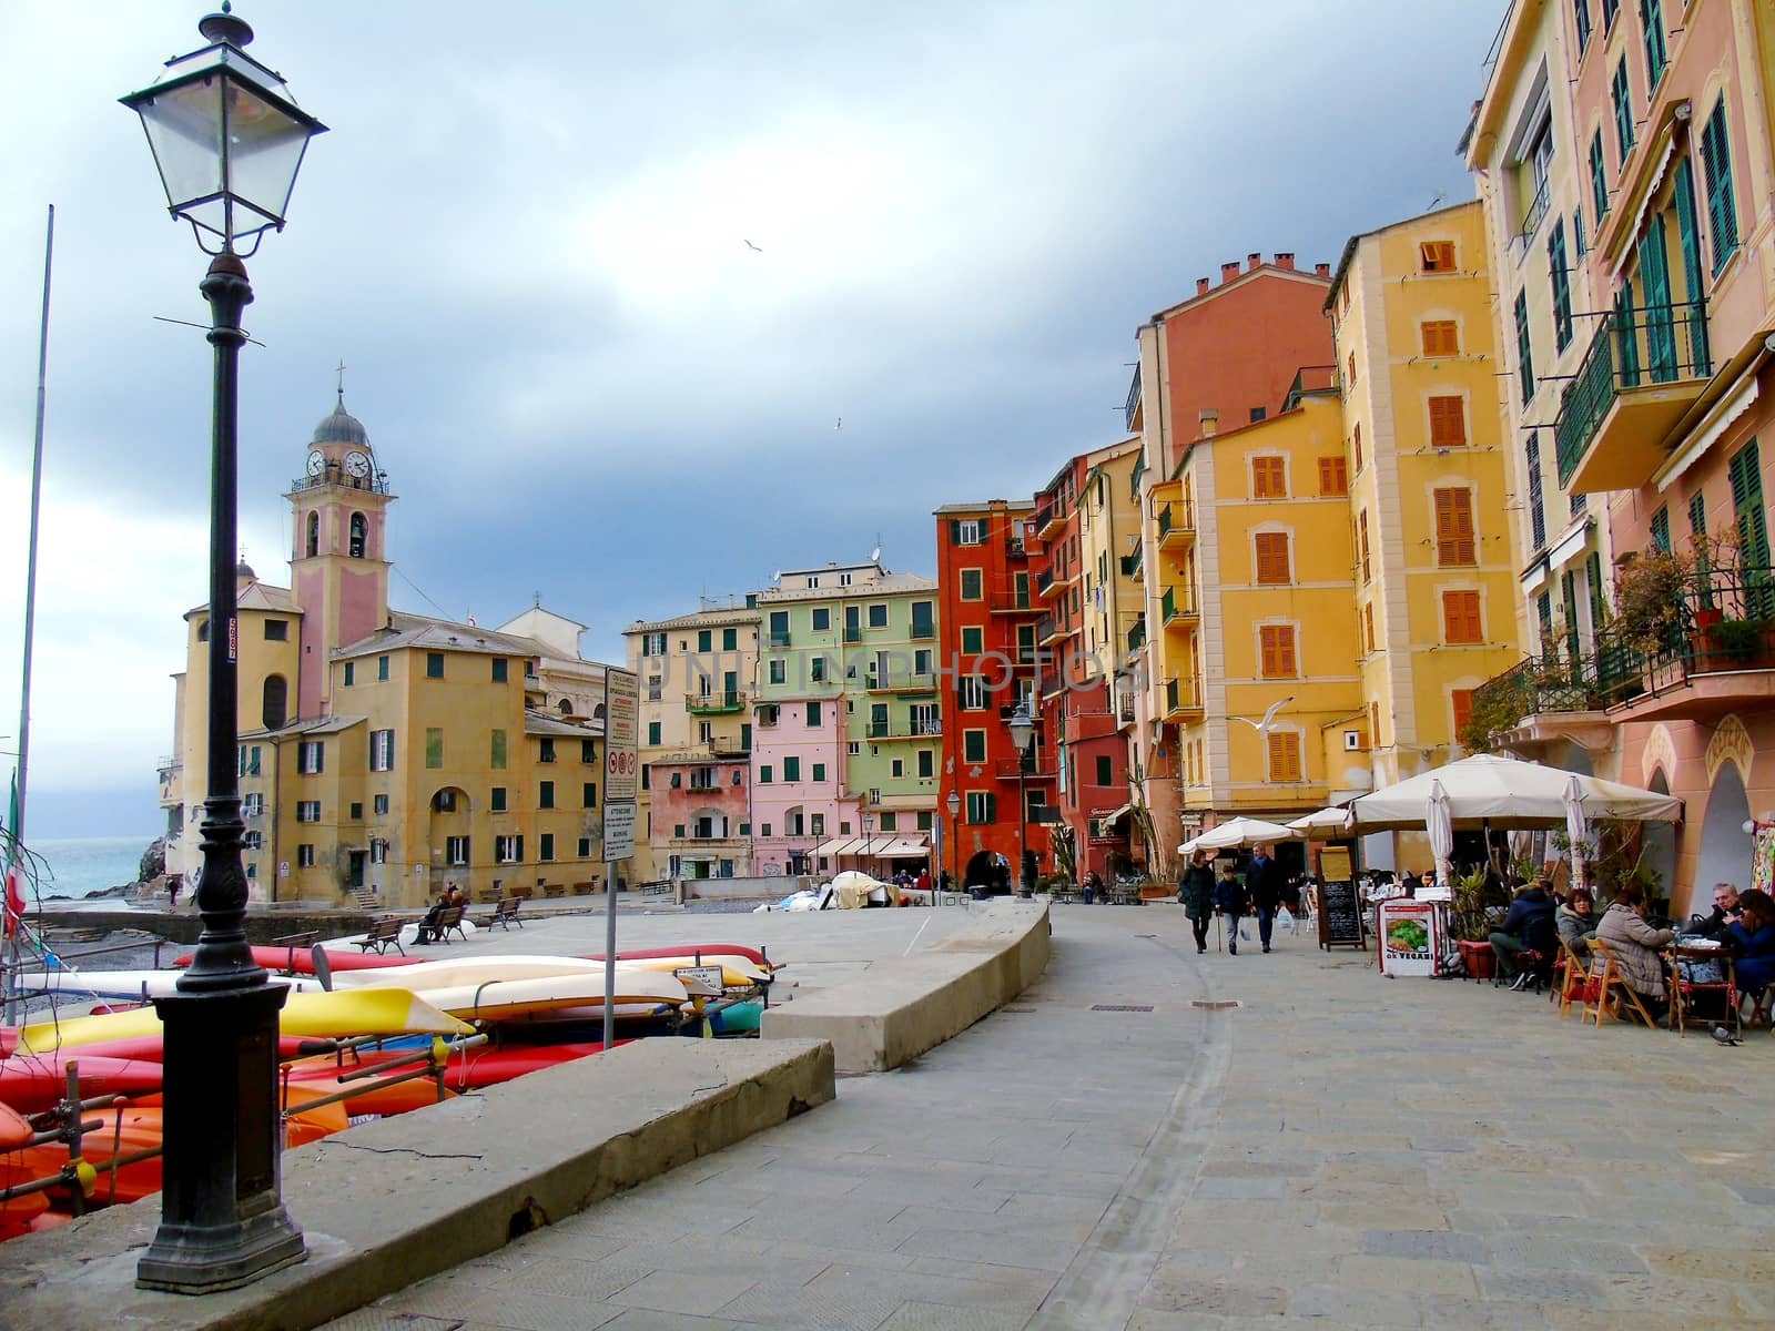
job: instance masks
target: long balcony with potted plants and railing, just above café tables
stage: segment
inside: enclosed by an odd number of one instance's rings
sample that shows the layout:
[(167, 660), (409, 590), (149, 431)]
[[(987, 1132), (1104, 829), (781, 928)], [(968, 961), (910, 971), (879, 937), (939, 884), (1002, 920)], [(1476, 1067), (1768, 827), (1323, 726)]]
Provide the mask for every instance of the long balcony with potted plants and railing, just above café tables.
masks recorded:
[(1583, 729), (1622, 721), (1716, 721), (1770, 701), (1775, 570), (1708, 570), (1649, 639), (1628, 642), (1612, 626), (1589, 651), (1528, 658), (1473, 690), (1473, 719), (1514, 749), (1553, 736), (1582, 744)]

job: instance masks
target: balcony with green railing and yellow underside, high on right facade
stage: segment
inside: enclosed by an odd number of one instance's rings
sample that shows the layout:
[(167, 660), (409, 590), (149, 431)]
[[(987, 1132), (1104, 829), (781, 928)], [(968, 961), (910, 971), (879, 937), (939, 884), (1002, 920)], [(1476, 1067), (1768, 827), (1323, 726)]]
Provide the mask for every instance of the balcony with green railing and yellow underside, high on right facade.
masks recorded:
[(1706, 302), (1605, 314), (1553, 424), (1560, 486), (1645, 484), (1711, 373)]

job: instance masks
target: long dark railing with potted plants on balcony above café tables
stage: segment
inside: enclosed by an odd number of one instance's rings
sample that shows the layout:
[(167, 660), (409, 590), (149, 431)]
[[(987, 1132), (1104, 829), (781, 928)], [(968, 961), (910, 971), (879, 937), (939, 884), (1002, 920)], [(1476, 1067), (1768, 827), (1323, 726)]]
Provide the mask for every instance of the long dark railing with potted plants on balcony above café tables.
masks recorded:
[(1553, 644), (1475, 689), (1473, 715), (1503, 731), (1534, 715), (1668, 701), (1699, 676), (1743, 671), (1775, 671), (1775, 570), (1697, 573), (1649, 637), (1610, 626), (1587, 651)]

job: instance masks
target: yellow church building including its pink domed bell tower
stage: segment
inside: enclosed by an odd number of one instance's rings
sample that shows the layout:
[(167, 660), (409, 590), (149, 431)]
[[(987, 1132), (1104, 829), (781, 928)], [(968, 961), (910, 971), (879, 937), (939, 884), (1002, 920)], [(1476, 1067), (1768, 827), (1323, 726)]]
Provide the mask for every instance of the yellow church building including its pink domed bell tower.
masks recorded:
[[(339, 406), (288, 493), (291, 587), (238, 570), (238, 774), (256, 900), (415, 905), (591, 891), (605, 866), (604, 667), (540, 605), (502, 628), (387, 603), (394, 495)], [(178, 752), (162, 763), (169, 873), (201, 864), (209, 610), (186, 614)]]

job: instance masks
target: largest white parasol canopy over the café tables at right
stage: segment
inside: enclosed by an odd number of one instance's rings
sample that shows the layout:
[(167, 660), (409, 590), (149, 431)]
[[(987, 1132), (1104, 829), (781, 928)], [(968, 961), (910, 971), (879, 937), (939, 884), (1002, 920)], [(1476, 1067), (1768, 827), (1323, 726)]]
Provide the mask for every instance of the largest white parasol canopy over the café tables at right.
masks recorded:
[[(1567, 788), (1573, 772), (1541, 763), (1525, 763), (1498, 754), (1473, 754), (1434, 772), (1400, 781), (1351, 802), (1360, 832), (1388, 832), (1424, 827), (1431, 802), (1431, 784), (1440, 783), (1448, 795), (1448, 820), (1454, 827), (1564, 827)], [(1619, 781), (1576, 776), (1589, 818), (1624, 818), (1628, 822), (1676, 822), (1683, 800), (1658, 795)]]

